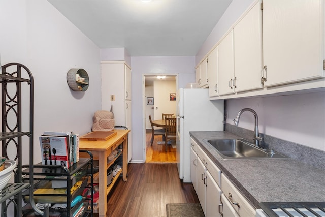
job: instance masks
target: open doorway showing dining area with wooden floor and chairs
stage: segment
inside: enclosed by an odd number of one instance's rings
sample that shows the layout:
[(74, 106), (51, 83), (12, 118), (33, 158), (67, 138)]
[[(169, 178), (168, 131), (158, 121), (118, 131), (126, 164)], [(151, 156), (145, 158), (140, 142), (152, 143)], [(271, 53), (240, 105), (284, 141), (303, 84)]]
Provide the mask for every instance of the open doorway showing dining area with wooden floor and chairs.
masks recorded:
[[(168, 145), (165, 152), (163, 136), (155, 136), (151, 145), (151, 125), (149, 115), (152, 120), (162, 119), (163, 113), (174, 113), (176, 115), (176, 101), (170, 96), (176, 94), (178, 76), (177, 75), (143, 75), (143, 114), (144, 114), (144, 157), (149, 162), (176, 162), (176, 147)], [(177, 97), (177, 96), (176, 96)], [(159, 129), (156, 128), (155, 129)]]

